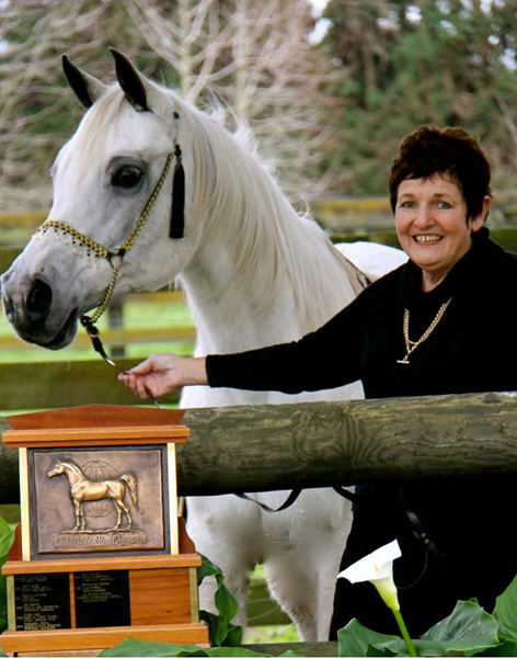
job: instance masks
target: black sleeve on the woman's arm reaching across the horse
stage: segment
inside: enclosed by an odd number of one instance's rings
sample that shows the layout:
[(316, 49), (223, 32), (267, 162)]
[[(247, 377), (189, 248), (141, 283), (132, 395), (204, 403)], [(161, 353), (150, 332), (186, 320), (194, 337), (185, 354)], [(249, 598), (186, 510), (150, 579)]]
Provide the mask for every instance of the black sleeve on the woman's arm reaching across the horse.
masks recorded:
[(297, 394), (336, 388), (359, 379), (368, 306), (365, 292), (326, 325), (299, 341), (238, 354), (209, 354), (208, 384)]

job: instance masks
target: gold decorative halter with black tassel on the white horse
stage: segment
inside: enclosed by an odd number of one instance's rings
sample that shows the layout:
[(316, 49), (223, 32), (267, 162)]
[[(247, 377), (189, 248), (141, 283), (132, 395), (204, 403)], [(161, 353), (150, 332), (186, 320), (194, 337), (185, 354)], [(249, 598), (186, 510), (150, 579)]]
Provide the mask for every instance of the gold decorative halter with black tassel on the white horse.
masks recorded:
[[(120, 270), (120, 266), (124, 262), (124, 257), (129, 251), (129, 249), (134, 246), (140, 231), (142, 230), (143, 226), (146, 225), (147, 220), (149, 219), (151, 209), (158, 198), (158, 195), (160, 194), (163, 183), (165, 182), (165, 179), (169, 174), (169, 170), (171, 169), (172, 160), (174, 158), (175, 158), (176, 162), (174, 166), (174, 175), (173, 175), (173, 189), (172, 189), (173, 202), (172, 202), (172, 218), (171, 218), (170, 237), (175, 238), (175, 239), (182, 238), (183, 229), (184, 229), (185, 174), (184, 174), (183, 166), (182, 166), (182, 150), (181, 150), (179, 144), (174, 145), (174, 152), (169, 154), (166, 161), (165, 161), (165, 166), (162, 171), (162, 174), (161, 174), (154, 190), (152, 191), (152, 194), (150, 195), (149, 201), (146, 204), (146, 207), (143, 208), (140, 217), (138, 218), (138, 222), (136, 223), (135, 228), (133, 229), (133, 232), (116, 249), (108, 249), (107, 247), (100, 245), (99, 242), (96, 242), (95, 240), (90, 238), (89, 236), (82, 234), (81, 231), (77, 230), (72, 226), (65, 224), (64, 222), (56, 222), (54, 219), (46, 220), (38, 228), (38, 232), (41, 232), (41, 234), (46, 234), (47, 230), (54, 229), (55, 234), (62, 232), (65, 235), (65, 237), (70, 236), (72, 248), (74, 251), (78, 251), (80, 256), (82, 256), (83, 251), (85, 251), (87, 258), (91, 257), (93, 253), (93, 256), (95, 258), (106, 259), (108, 261), (110, 265), (112, 266), (112, 269), (113, 269), (112, 279), (106, 288), (106, 294), (104, 295), (104, 300), (94, 310), (94, 313), (91, 317), (87, 316), (87, 315), (82, 315), (80, 317), (80, 321), (81, 321), (81, 325), (84, 327), (88, 336), (91, 338), (94, 350), (96, 352), (99, 352), (99, 354), (101, 354), (101, 356), (104, 359), (104, 361), (106, 361), (107, 363), (110, 363), (110, 365), (113, 365), (120, 372), (125, 372), (125, 371), (122, 370), (120, 367), (118, 367), (110, 359), (110, 356), (107, 356), (106, 352), (104, 351), (103, 344), (101, 342), (99, 329), (94, 325), (110, 305), (110, 302), (113, 296), (113, 291), (115, 290), (115, 285), (117, 282), (118, 271)], [(154, 398), (152, 396), (150, 396), (150, 397), (151, 397), (152, 401), (158, 406), (158, 402), (154, 400)]]

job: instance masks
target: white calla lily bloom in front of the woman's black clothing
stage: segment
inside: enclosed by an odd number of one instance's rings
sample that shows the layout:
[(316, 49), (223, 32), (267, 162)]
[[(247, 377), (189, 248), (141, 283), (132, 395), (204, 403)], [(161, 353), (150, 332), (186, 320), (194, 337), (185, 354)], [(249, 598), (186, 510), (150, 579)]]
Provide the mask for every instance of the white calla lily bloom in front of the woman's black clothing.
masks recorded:
[(337, 578), (346, 578), (351, 582), (371, 582), (391, 610), (400, 610), (395, 583), (393, 582), (393, 560), (402, 555), (399, 542), (394, 540), (354, 563)]

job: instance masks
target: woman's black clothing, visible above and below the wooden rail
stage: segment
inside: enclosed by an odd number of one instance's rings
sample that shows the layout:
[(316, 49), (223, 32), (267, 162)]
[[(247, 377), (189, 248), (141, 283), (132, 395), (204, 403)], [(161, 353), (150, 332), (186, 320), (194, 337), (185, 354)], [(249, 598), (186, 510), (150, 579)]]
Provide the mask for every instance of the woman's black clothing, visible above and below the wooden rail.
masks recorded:
[[(297, 342), (208, 356), (208, 381), (210, 386), (296, 394), (361, 379), (367, 398), (514, 390), (516, 285), (517, 256), (482, 228), (473, 234), (472, 249), (433, 291), (422, 291), (422, 271), (409, 261)], [(406, 352), (404, 309), (410, 311), (410, 339), (416, 341), (448, 299), (410, 363), (398, 363)], [(513, 477), (405, 480), (356, 490), (370, 502), (355, 506), (342, 568), (397, 537), (403, 557), (395, 561), (394, 576), (403, 586), (401, 610), (413, 636), (449, 614), (459, 599), (478, 597), (492, 610), (517, 571), (517, 549), (508, 536), (517, 507)], [(418, 538), (407, 509), (437, 553)], [(353, 616), (376, 631), (398, 632), (369, 583), (340, 579), (332, 636)]]

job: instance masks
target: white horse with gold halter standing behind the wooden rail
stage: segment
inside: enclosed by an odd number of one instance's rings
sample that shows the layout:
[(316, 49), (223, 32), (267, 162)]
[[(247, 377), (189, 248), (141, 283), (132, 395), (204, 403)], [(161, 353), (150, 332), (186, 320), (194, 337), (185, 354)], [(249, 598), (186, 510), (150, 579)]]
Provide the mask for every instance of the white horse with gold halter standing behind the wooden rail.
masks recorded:
[[(19, 336), (49, 349), (68, 345), (78, 318), (105, 299), (110, 283), (116, 298), (179, 277), (198, 355), (296, 340), (347, 305), (365, 277), (312, 219), (298, 216), (246, 132), (231, 134), (217, 112), (196, 110), (113, 55), (118, 84), (111, 87), (64, 60), (89, 111), (54, 164), (43, 230), (2, 277), (4, 310)], [(160, 178), (162, 190), (153, 193)], [(150, 197), (152, 208), (141, 214)], [(296, 397), (198, 387), (184, 392), (182, 406), (361, 395), (359, 384)], [(255, 495), (275, 507), (285, 497)], [(274, 598), (307, 642), (328, 637), (349, 525), (349, 503), (330, 489), (306, 490), (277, 514), (234, 496), (187, 500), (189, 535), (225, 572), (241, 604), (238, 621), (249, 572), (263, 563)], [(200, 597), (212, 609), (212, 593)]]

